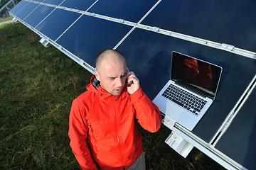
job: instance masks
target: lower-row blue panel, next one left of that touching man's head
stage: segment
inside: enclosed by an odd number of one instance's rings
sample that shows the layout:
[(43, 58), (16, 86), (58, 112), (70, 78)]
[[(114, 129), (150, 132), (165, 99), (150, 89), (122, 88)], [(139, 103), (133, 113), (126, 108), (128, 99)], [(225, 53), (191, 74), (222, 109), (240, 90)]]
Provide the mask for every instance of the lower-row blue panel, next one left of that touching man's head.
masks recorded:
[(56, 40), (79, 16), (80, 13), (56, 8), (36, 29), (52, 40)]

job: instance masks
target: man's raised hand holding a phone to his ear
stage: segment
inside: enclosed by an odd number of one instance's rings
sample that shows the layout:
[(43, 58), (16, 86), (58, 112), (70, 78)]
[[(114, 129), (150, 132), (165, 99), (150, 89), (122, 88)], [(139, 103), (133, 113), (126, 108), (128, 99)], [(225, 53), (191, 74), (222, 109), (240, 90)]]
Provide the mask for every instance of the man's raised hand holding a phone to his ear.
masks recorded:
[(139, 89), (139, 79), (134, 72), (129, 72), (127, 68), (127, 91), (129, 94), (133, 94), (137, 89)]

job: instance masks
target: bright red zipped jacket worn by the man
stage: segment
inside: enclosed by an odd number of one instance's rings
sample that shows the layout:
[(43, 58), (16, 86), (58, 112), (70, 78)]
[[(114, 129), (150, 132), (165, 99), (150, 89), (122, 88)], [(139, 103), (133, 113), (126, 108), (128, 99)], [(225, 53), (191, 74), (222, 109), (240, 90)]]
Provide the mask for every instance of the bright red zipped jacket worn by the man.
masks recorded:
[(96, 89), (94, 79), (73, 101), (70, 147), (82, 169), (96, 169), (96, 165), (98, 169), (127, 169), (143, 151), (134, 118), (144, 129), (156, 132), (161, 113), (141, 88), (130, 95), (124, 87), (122, 94), (112, 96), (102, 86)]

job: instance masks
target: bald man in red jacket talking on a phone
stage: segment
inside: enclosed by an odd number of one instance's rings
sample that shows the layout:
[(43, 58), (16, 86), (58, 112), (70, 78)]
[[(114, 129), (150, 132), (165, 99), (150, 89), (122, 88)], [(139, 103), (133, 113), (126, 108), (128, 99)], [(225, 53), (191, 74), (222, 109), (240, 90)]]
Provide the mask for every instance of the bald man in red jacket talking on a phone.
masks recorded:
[(142, 92), (122, 54), (106, 50), (97, 57), (87, 91), (75, 98), (70, 111), (70, 147), (80, 167), (145, 169), (134, 119), (149, 132), (161, 126), (159, 108)]

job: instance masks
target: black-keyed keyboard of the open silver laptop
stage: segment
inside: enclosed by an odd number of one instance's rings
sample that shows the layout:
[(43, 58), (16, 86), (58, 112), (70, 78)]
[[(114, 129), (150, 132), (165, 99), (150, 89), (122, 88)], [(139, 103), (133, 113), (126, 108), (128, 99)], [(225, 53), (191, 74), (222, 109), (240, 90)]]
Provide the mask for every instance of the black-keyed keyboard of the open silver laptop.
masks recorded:
[(190, 111), (194, 115), (199, 115), (203, 106), (206, 105), (206, 100), (202, 98), (198, 98), (188, 91), (184, 91), (183, 89), (170, 84), (167, 89), (164, 91), (162, 96), (169, 98), (169, 100), (174, 101), (179, 106), (186, 108), (186, 110)]

